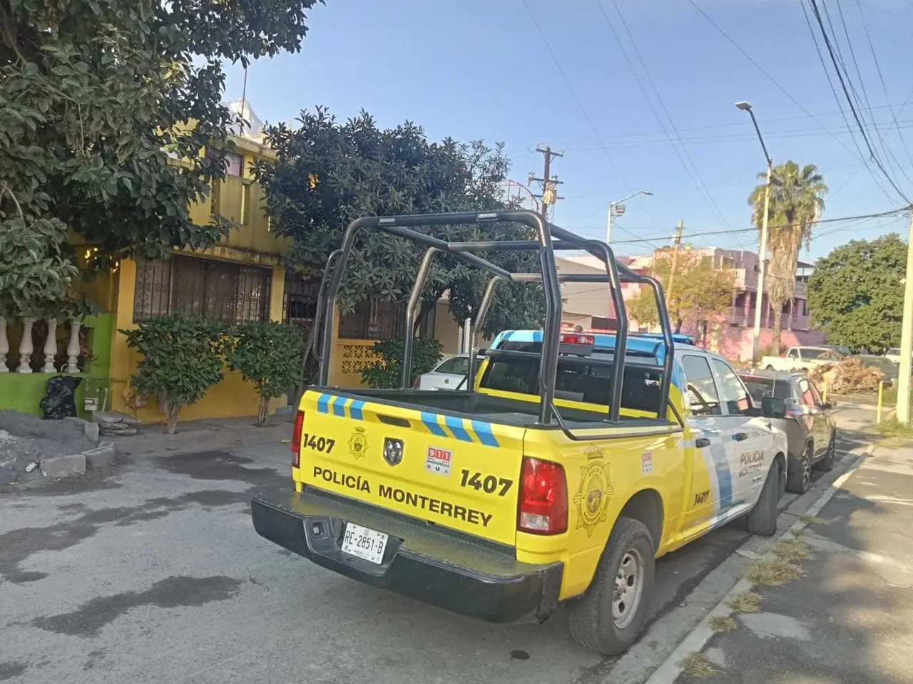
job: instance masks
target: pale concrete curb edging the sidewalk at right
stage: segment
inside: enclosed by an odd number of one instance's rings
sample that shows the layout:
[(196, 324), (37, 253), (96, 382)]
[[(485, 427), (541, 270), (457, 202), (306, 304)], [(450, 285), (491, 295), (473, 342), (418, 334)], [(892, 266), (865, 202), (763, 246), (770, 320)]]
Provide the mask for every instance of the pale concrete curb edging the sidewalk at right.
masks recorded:
[[(874, 448), (874, 443), (869, 443), (868, 445), (866, 445), (866, 447), (863, 449), (863, 452), (859, 456), (856, 457), (855, 461), (853, 461), (846, 468), (846, 470), (844, 472), (842, 472), (834, 480), (834, 482), (831, 483), (831, 485), (827, 488), (827, 490), (820, 497), (818, 497), (817, 501), (815, 501), (815, 503), (813, 503), (804, 514), (809, 517), (811, 517), (813, 515), (817, 515), (821, 511), (821, 509), (824, 508), (824, 505), (831, 500), (831, 498), (834, 496), (834, 494), (837, 492), (837, 490), (840, 489), (840, 487), (843, 485), (843, 483), (849, 479), (850, 475), (852, 475), (853, 472), (855, 472), (855, 470), (860, 465), (862, 465), (863, 461), (865, 461), (866, 458), (868, 458), (868, 456), (871, 455), (873, 448)], [(790, 513), (789, 508), (792, 508), (792, 506), (788, 507), (785, 511), (780, 513), (780, 515), (777, 517), (778, 524), (785, 516), (794, 515), (794, 513)], [(792, 537), (796, 537), (797, 533), (801, 532), (808, 524), (809, 523), (806, 523), (802, 519), (796, 520), (794, 523), (792, 523), (792, 525), (790, 525), (790, 527), (783, 534), (780, 534), (776, 537), (771, 537), (771, 542), (779, 541), (780, 539), (782, 539), (783, 537), (785, 537), (787, 535), (792, 535)], [(772, 544), (769, 544), (769, 545), (772, 545)], [(737, 550), (736, 553), (738, 554), (739, 551)], [(775, 558), (775, 556), (772, 551), (768, 551), (767, 553), (761, 555), (761, 560), (765, 560), (765, 561), (770, 561), (770, 560), (773, 560), (774, 558)], [(703, 583), (701, 583), (701, 584), (703, 584)], [(731, 610), (731, 608), (729, 608), (729, 606), (726, 605), (726, 602), (729, 601), (729, 599), (732, 598), (733, 596), (736, 596), (743, 591), (750, 590), (753, 586), (754, 586), (753, 583), (751, 583), (748, 579), (742, 577), (736, 583), (736, 585), (733, 586), (729, 590), (729, 592), (727, 592), (726, 596), (723, 596), (723, 598), (719, 601), (719, 603), (716, 606), (714, 606), (714, 608), (707, 614), (707, 616), (705, 616), (704, 619), (702, 619), (700, 621), (698, 626), (694, 627), (687, 634), (687, 636), (678, 644), (678, 646), (672, 651), (672, 653), (670, 653), (668, 655), (668, 657), (662, 663), (662, 665), (660, 665), (659, 668), (656, 668), (656, 670), (654, 670), (653, 674), (650, 675), (650, 678), (646, 679), (645, 684), (670, 684), (671, 682), (674, 682), (678, 678), (678, 676), (682, 673), (682, 668), (679, 666), (678, 663), (683, 658), (685, 658), (689, 653), (694, 653), (694, 652), (699, 651), (702, 648), (704, 648), (707, 645), (707, 642), (709, 641), (710, 637), (714, 636), (714, 632), (710, 628), (710, 620), (713, 617), (717, 617), (717, 616), (720, 616), (720, 617), (729, 616), (732, 613), (732, 610)]]

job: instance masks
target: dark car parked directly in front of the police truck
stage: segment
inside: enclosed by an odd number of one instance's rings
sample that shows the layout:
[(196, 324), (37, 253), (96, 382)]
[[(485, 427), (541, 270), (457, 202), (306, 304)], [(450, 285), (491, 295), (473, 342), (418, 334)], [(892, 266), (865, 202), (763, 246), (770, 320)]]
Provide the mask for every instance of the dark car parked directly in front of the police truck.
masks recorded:
[(832, 403), (822, 400), (814, 383), (798, 373), (759, 369), (747, 371), (741, 378), (759, 406), (764, 397), (785, 399), (786, 417), (771, 422), (786, 432), (788, 440), (786, 491), (807, 492), (813, 468), (827, 472), (834, 467)]

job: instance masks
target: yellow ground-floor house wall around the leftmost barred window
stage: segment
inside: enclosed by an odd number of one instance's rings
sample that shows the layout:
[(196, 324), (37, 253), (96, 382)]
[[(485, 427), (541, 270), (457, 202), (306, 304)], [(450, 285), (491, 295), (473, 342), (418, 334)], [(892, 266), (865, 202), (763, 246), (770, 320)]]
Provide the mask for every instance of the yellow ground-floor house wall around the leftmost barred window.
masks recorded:
[[(133, 323), (133, 294), (136, 286), (136, 262), (124, 259), (118, 269), (119, 284), (114, 313), (114, 330), (111, 339), (110, 408), (132, 412), (124, 398), (124, 390), (130, 385), (131, 374), (136, 372), (140, 355), (127, 347), (127, 337), (120, 329), (131, 330)], [(285, 269), (274, 267), (270, 281), (269, 319), (282, 320), (282, 300), (285, 296)], [(257, 415), (259, 397), (250, 383), (240, 373), (225, 370), (225, 378), (206, 392), (203, 399), (181, 409), (179, 420), (201, 418), (233, 418)], [(270, 401), (270, 411), (288, 403), (285, 396)], [(158, 399), (149, 397), (146, 406), (136, 410), (143, 422), (164, 422), (159, 411)]]

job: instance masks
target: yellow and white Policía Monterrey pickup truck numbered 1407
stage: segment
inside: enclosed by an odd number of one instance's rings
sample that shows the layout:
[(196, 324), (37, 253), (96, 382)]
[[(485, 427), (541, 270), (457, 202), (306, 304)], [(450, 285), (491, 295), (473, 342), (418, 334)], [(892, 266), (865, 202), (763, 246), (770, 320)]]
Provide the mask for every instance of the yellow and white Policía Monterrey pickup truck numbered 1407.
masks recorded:
[[(538, 239), (454, 243), (411, 228), (498, 222), (526, 223)], [(403, 388), (327, 386), (326, 326), (320, 384), (295, 419), (294, 486), (253, 501), (258, 534), (492, 622), (540, 622), (567, 601), (572, 636), (612, 655), (644, 627), (656, 557), (740, 516), (752, 533), (775, 532), (786, 438), (768, 419), (785, 407), (772, 398), (755, 407), (725, 359), (676, 341), (652, 278), (532, 212), (359, 219), (321, 287), (326, 320), (364, 229), (427, 247), (406, 316)], [(605, 275), (559, 275), (556, 249), (589, 251)], [(538, 250), (540, 272), (510, 273), (476, 254), (509, 250)], [(471, 387), (412, 389), (413, 312), (439, 253), (492, 275), (474, 330), (504, 281), (541, 283), (545, 324), (499, 334), (470, 368)], [(607, 283), (617, 330), (562, 333), (562, 281)], [(628, 335), (622, 282), (653, 289), (661, 335)]]

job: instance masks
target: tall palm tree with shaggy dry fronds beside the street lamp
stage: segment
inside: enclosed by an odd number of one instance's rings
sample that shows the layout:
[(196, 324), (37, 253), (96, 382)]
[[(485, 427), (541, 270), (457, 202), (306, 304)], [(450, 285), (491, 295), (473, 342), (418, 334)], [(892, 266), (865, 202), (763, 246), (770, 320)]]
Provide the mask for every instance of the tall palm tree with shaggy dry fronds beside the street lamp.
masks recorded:
[[(799, 249), (812, 240), (812, 225), (824, 212), (824, 194), (827, 186), (814, 164), (800, 168), (795, 161), (787, 161), (773, 170), (782, 184), (771, 183), (771, 207), (768, 215), (767, 244), (771, 261), (767, 269), (768, 293), (773, 307), (773, 354), (780, 353), (780, 333), (783, 304), (795, 295), (796, 262)], [(758, 178), (767, 178), (761, 171)], [(767, 184), (758, 185), (748, 198), (751, 223), (761, 230), (764, 218), (764, 191)], [(761, 293), (762, 294), (762, 293)], [(757, 306), (761, 306), (761, 294)]]

